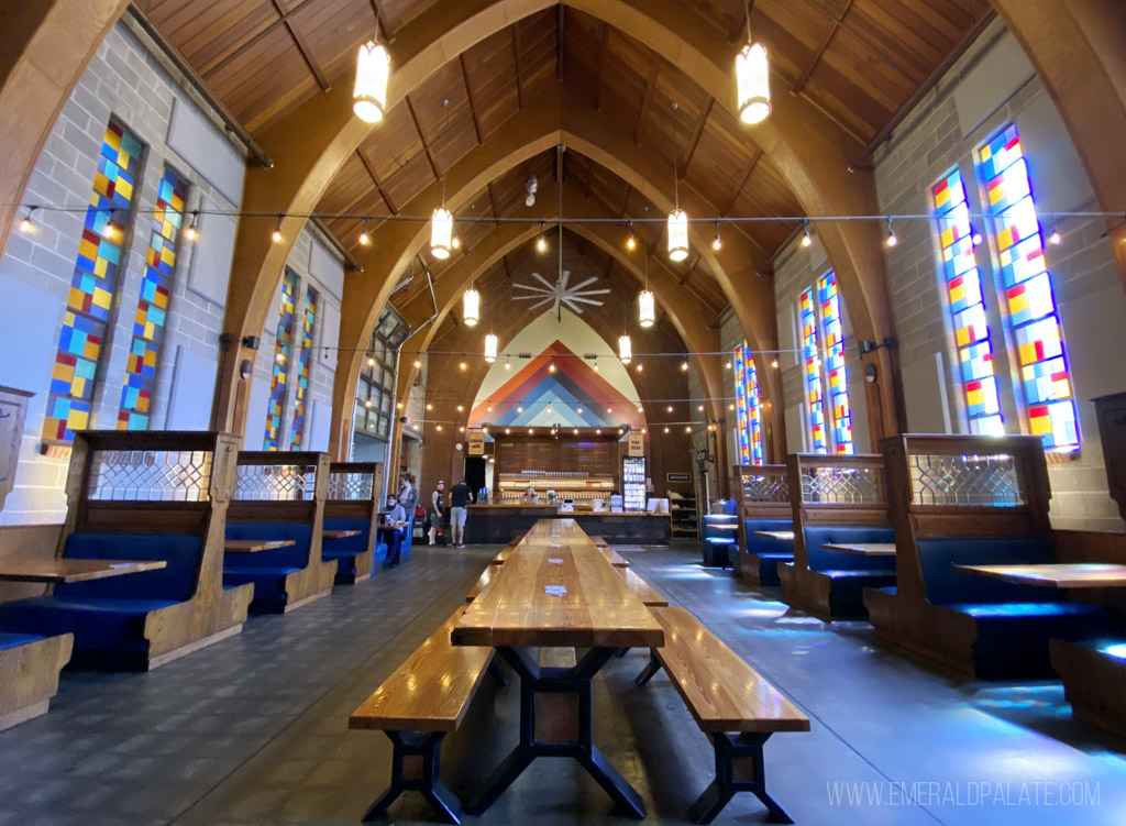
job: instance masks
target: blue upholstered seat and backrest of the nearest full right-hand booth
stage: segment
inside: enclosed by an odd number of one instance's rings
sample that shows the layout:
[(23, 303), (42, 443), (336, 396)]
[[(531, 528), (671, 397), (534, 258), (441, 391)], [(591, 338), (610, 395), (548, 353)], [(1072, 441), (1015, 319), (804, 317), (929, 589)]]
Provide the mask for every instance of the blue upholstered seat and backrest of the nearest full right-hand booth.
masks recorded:
[(920, 539), (917, 544), (927, 601), (972, 616), (977, 625), (974, 660), (978, 676), (1051, 674), (1049, 638), (1076, 641), (1121, 633), (1121, 622), (1096, 605), (954, 568), (1053, 562), (1046, 540), (944, 538)]

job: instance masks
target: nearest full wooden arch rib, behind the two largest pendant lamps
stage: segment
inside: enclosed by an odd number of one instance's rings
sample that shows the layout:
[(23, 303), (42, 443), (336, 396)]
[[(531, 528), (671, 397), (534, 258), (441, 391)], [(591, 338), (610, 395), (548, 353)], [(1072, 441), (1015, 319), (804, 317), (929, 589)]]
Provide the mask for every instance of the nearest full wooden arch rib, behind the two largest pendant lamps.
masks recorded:
[[(727, 108), (734, 106), (731, 66), (717, 64), (708, 56), (714, 52), (714, 33), (701, 20), (682, 14), (673, 0), (565, 0), (581, 10), (629, 36), (649, 44), (665, 60), (692, 78), (708, 95)], [(516, 20), (555, 6), (555, 0), (476, 0), (471, 3), (435, 6), (396, 35), (392, 46), (394, 74), (388, 90), (388, 105), (394, 106), (438, 71), (447, 61)], [(312, 211), (332, 176), (368, 134), (369, 127), (351, 117), (350, 85), (340, 82), (327, 94), (301, 106), (269, 130), (261, 140), (263, 149), (276, 161), (272, 171), (250, 169), (243, 197), (245, 210), (285, 211), (301, 215)], [(771, 117), (752, 131), (753, 140), (770, 156), (789, 181), (792, 189), (811, 215), (875, 214), (875, 185), (868, 172), (848, 172), (848, 163), (859, 150), (856, 142), (805, 101), (784, 89), (775, 95)], [(662, 178), (665, 176), (662, 176)], [(234, 340), (261, 329), (269, 300), (285, 265), (293, 238), (304, 220), (284, 222), (283, 243), (269, 242), (271, 219), (243, 220), (235, 245), (234, 272), (226, 305), (225, 329), (235, 332)], [(894, 335), (886, 270), (878, 227), (849, 223), (819, 228), (842, 294), (854, 329), (860, 338), (883, 340)], [(704, 245), (704, 249), (707, 247)], [(709, 264), (740, 279), (738, 287), (725, 285), (732, 307), (740, 317), (749, 339), (747, 302), (740, 297), (754, 272), (753, 258), (739, 266), (722, 266), (732, 257), (726, 250), (716, 260), (709, 251)], [(765, 304), (769, 308), (772, 301)], [(770, 314), (762, 311), (765, 314)], [(771, 328), (774, 322), (771, 321)], [(902, 391), (893, 352), (881, 348), (882, 362), (875, 384), (867, 385), (869, 416), (874, 436), (899, 429)], [(227, 359), (236, 365), (241, 352)], [(240, 388), (230, 366), (225, 376), (230, 387)], [(239, 429), (234, 410), (245, 410), (245, 388), (224, 393), (225, 407), (217, 411), (217, 424)]]

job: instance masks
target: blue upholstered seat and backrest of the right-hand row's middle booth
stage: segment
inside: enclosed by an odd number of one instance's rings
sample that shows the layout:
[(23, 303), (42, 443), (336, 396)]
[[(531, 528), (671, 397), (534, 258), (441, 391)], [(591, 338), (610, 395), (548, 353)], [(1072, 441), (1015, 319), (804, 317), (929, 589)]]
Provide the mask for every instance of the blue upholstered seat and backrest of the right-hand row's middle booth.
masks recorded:
[(860, 525), (810, 525), (805, 529), (805, 553), (810, 570), (832, 580), (829, 609), (833, 616), (863, 616), (865, 588), (895, 585), (895, 560), (828, 551), (829, 544), (875, 544), (895, 542), (894, 527)]

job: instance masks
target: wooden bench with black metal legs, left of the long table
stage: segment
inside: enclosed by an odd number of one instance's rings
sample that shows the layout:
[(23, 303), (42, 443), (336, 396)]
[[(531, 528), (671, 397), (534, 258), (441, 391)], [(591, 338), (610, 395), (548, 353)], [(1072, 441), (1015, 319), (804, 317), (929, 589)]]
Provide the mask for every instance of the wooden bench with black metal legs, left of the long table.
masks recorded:
[(394, 745), (391, 785), (364, 820), (386, 816), (400, 794), (417, 791), (446, 823), (461, 823), (457, 798), (438, 778), (441, 740), (462, 725), (493, 658), (491, 648), (450, 643), (464, 611), (455, 611), (349, 718), (348, 728), (383, 731)]

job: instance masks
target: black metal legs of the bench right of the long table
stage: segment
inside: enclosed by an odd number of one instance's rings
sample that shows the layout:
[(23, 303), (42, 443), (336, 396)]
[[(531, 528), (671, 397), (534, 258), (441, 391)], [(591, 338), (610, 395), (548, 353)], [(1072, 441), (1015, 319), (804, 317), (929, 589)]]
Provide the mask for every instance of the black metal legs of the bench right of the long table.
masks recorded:
[[(634, 682), (645, 685), (661, 670), (661, 660), (650, 651), (649, 665)], [(692, 823), (712, 823), (736, 792), (749, 791), (763, 802), (770, 811), (770, 823), (794, 823), (786, 810), (767, 793), (766, 764), (762, 745), (770, 732), (743, 732), (736, 735), (712, 734), (715, 747), (715, 780), (704, 790), (691, 808), (688, 817)]]

